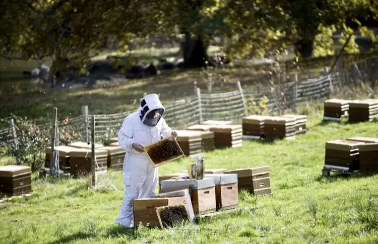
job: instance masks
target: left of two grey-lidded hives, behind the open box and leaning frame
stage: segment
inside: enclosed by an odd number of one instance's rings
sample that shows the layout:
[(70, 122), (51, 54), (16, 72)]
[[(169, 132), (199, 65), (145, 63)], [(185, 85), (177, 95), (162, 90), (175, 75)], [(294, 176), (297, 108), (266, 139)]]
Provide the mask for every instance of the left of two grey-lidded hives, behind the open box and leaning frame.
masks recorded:
[(216, 211), (215, 183), (213, 178), (203, 180), (168, 179), (161, 181), (161, 189), (181, 190), (190, 187), (193, 211), (197, 215)]

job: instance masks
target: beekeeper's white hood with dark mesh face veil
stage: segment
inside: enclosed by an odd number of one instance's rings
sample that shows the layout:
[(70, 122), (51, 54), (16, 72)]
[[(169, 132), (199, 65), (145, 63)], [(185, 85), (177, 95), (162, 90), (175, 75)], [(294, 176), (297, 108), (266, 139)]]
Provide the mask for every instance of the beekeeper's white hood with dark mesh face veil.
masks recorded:
[[(149, 94), (142, 98), (141, 100), (141, 107), (139, 110), (139, 118), (141, 118), (142, 123), (147, 126), (155, 126), (159, 123), (160, 118), (163, 116), (165, 112), (165, 108), (161, 104), (159, 100), (159, 96), (157, 94)], [(153, 118), (148, 118), (147, 115), (151, 112), (155, 112), (156, 114)]]

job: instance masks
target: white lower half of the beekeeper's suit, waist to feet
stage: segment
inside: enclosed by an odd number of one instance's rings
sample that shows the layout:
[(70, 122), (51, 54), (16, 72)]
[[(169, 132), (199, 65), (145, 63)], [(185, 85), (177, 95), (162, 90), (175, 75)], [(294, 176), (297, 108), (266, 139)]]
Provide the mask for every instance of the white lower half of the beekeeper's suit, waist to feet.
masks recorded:
[(115, 223), (133, 227), (133, 200), (155, 195), (157, 180), (158, 171), (146, 155), (127, 152), (123, 162), (123, 200)]

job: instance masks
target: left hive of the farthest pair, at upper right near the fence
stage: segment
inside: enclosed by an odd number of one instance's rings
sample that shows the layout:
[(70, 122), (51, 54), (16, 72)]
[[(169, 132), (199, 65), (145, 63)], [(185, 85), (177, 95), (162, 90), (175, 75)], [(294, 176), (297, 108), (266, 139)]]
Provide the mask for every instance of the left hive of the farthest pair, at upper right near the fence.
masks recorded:
[(330, 99), (324, 102), (324, 120), (340, 121), (348, 116), (349, 100)]

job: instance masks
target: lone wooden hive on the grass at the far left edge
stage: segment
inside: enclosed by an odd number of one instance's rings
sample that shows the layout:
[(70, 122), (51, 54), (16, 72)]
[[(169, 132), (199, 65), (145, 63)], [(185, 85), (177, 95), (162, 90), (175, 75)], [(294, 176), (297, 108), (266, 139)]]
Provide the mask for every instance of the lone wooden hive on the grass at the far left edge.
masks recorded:
[(7, 165), (0, 167), (0, 192), (10, 196), (30, 193), (31, 167)]

